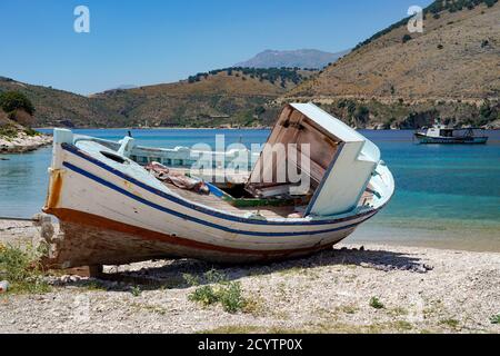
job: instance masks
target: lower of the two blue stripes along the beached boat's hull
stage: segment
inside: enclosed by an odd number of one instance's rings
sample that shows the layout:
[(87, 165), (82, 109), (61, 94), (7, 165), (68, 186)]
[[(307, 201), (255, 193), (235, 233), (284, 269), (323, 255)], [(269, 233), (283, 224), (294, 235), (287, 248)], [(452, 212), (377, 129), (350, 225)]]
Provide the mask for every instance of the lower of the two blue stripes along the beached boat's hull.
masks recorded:
[(207, 221), (207, 220), (202, 220), (202, 219), (196, 218), (193, 216), (189, 216), (189, 215), (186, 215), (186, 214), (182, 214), (182, 212), (179, 212), (179, 211), (176, 211), (176, 210), (172, 210), (172, 209), (159, 206), (159, 205), (157, 205), (154, 202), (151, 202), (151, 201), (149, 201), (149, 200), (147, 200), (144, 198), (138, 197), (138, 196), (131, 194), (130, 191), (127, 191), (127, 190), (124, 190), (124, 189), (122, 189), (122, 188), (120, 188), (120, 187), (118, 187), (118, 186), (116, 186), (116, 185), (113, 185), (113, 184), (111, 184), (111, 182), (100, 178), (100, 177), (97, 177), (97, 176), (92, 175), (91, 172), (88, 172), (88, 171), (86, 171), (86, 170), (83, 170), (83, 169), (81, 169), (81, 168), (79, 168), (79, 167), (77, 167), (77, 166), (74, 166), (74, 165), (72, 165), (70, 162), (64, 161), (62, 165), (63, 165), (63, 167), (72, 170), (72, 171), (74, 171), (77, 174), (80, 174), (80, 175), (82, 175), (82, 176), (84, 176), (84, 177), (87, 177), (87, 178), (89, 178), (89, 179), (91, 179), (93, 181), (99, 182), (102, 186), (106, 186), (106, 187), (108, 187), (108, 188), (110, 188), (112, 190), (116, 190), (116, 191), (118, 191), (118, 192), (120, 192), (120, 194), (122, 194), (122, 195), (124, 195), (124, 196), (127, 196), (127, 197), (129, 197), (129, 198), (131, 198), (131, 199), (133, 199), (136, 201), (139, 201), (139, 202), (141, 202), (143, 205), (147, 205), (147, 206), (149, 206), (151, 208), (154, 208), (157, 210), (167, 212), (167, 214), (176, 216), (178, 218), (182, 218), (182, 219), (186, 219), (186, 220), (189, 220), (189, 221), (197, 222), (199, 225), (209, 226), (209, 227), (212, 227), (212, 228), (216, 228), (216, 229), (219, 229), (219, 230), (222, 230), (222, 231), (227, 231), (227, 233), (232, 233), (232, 234), (250, 235), (250, 236), (274, 236), (274, 237), (279, 237), (279, 236), (310, 236), (310, 235), (328, 234), (328, 233), (334, 233), (334, 231), (351, 229), (351, 228), (354, 228), (359, 224), (361, 224), (364, 220), (368, 220), (370, 218), (370, 217), (368, 217), (368, 218), (366, 218), (366, 219), (363, 219), (363, 220), (361, 220), (359, 222), (347, 225), (347, 226), (342, 226), (342, 227), (323, 229), (323, 230), (307, 231), (307, 233), (303, 233), (303, 231), (299, 231), (299, 233), (297, 233), (297, 231), (296, 233), (269, 233), (269, 231), (264, 231), (264, 233), (262, 233), (262, 231), (239, 230), (239, 229), (233, 229), (233, 228), (230, 228), (230, 227), (227, 227), (227, 226), (221, 226), (221, 225), (218, 225), (218, 224), (214, 224), (214, 222), (210, 222), (210, 221)]

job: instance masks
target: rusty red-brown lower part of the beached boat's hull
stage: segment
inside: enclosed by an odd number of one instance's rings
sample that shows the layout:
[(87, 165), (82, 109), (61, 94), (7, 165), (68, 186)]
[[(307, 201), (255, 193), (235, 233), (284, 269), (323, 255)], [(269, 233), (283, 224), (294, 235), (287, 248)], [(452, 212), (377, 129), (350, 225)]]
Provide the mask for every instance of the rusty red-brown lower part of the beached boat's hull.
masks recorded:
[(334, 239), (324, 245), (290, 250), (252, 250), (203, 244), (82, 211), (51, 212), (60, 217), (59, 236), (52, 246), (56, 254), (46, 259), (46, 265), (51, 268), (121, 265), (160, 258), (196, 258), (221, 264), (266, 263), (330, 249), (352, 233), (346, 230), (336, 234)]

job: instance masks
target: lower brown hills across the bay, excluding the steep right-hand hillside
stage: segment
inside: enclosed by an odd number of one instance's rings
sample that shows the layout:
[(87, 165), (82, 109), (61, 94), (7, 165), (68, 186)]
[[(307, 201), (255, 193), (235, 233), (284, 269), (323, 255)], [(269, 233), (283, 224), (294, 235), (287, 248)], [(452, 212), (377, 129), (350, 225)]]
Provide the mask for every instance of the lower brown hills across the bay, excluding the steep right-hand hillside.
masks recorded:
[(174, 83), (113, 89), (90, 97), (0, 77), (0, 92), (24, 93), (37, 127), (216, 127), (270, 125), (273, 99), (316, 71), (227, 68)]

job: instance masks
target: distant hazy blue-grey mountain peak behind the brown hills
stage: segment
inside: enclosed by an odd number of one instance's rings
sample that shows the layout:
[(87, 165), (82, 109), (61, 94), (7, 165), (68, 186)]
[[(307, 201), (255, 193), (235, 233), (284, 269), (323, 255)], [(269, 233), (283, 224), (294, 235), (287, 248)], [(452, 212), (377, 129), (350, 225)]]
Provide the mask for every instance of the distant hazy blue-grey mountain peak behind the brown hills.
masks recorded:
[(349, 50), (338, 53), (329, 53), (316, 49), (300, 49), (293, 51), (266, 50), (258, 53), (252, 59), (234, 65), (234, 67), (321, 69), (329, 63), (336, 62), (347, 53), (349, 53)]

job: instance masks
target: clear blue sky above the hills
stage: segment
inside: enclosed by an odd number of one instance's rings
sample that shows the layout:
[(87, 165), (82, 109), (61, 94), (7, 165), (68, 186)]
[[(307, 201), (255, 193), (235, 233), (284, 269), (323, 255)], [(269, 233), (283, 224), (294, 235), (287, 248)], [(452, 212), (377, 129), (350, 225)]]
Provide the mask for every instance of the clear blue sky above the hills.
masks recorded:
[[(0, 76), (79, 93), (170, 82), (264, 49), (352, 48), (431, 0), (0, 0)], [(90, 33), (73, 31), (77, 6)]]

